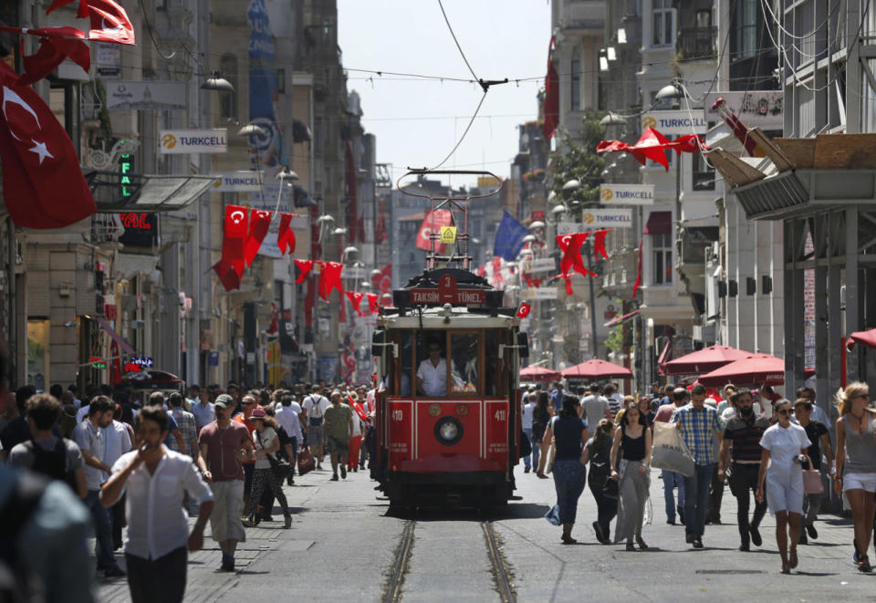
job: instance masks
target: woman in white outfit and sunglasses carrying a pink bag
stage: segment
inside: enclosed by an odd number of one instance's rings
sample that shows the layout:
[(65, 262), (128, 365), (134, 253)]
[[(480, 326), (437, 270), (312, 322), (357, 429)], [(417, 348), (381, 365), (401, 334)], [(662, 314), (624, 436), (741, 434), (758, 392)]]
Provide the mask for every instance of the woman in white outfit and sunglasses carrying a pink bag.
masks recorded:
[(776, 542), (782, 556), (782, 573), (790, 574), (798, 564), (797, 543), (803, 526), (803, 468), (800, 457), (808, 458), (808, 448), (812, 443), (806, 430), (791, 422), (793, 411), (788, 400), (777, 401), (774, 410), (778, 422), (764, 431), (760, 439), (763, 452), (757, 480), (757, 502), (762, 503), (766, 494), (769, 512), (776, 517)]

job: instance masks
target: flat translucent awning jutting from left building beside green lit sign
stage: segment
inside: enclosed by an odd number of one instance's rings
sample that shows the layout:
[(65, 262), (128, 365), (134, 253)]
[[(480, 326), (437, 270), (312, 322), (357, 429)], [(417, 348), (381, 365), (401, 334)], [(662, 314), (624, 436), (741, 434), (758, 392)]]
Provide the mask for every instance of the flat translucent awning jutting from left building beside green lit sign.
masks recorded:
[(217, 176), (199, 174), (125, 176), (130, 182), (122, 186), (119, 172), (85, 172), (98, 212), (175, 212), (195, 202), (220, 180)]

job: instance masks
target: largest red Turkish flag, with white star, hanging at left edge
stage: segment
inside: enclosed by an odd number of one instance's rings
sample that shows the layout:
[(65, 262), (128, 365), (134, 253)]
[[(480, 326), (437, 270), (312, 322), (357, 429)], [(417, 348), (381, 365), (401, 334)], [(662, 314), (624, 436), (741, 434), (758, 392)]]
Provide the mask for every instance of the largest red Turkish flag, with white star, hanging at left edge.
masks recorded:
[(67, 131), (33, 88), (0, 64), (0, 159), (6, 210), (19, 228), (62, 228), (97, 212)]

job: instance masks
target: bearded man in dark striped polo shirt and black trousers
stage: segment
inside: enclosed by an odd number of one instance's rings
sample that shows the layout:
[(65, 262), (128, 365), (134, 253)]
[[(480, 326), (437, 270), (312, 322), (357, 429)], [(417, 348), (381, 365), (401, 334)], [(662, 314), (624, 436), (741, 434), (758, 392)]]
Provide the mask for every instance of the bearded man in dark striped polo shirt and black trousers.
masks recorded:
[(730, 492), (736, 497), (736, 520), (739, 525), (740, 551), (750, 549), (749, 543), (761, 546), (763, 541), (757, 528), (767, 513), (767, 501), (755, 504), (755, 513), (748, 521), (749, 491), (757, 490), (757, 475), (760, 472), (760, 438), (769, 427), (769, 419), (754, 411), (755, 399), (751, 391), (742, 388), (731, 398), (736, 414), (729, 421), (721, 442), (718, 477), (727, 479), (730, 470)]

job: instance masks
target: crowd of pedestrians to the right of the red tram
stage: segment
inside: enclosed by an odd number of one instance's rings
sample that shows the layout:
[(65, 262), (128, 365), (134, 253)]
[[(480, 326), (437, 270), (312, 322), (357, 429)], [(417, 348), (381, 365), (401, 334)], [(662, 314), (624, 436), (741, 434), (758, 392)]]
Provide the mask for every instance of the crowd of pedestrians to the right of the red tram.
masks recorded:
[(792, 402), (769, 388), (727, 385), (718, 393), (702, 385), (654, 386), (652, 396), (627, 396), (620, 404), (611, 401), (617, 400), (617, 389), (591, 383), (576, 396), (562, 387), (523, 388), (523, 431), (532, 442), (524, 471), (537, 468), (544, 478), (553, 474), (557, 504), (546, 518), (562, 525), (561, 542), (576, 541), (571, 531), (587, 483), (597, 506), (592, 524), (597, 541), (623, 543), (627, 551), (648, 549), (642, 526), (652, 515), (652, 431), (655, 423), (664, 423), (677, 430), (692, 462), (684, 473), (661, 471), (666, 523), (684, 525), (687, 544), (704, 548), (705, 526), (722, 523), (720, 506), (729, 484), (739, 550), (763, 546), (760, 525), (769, 511), (776, 519), (781, 572), (789, 573), (798, 567), (798, 546), (819, 537), (818, 514), (829, 495), (822, 482), (832, 478), (835, 493), (851, 509), (853, 561), (861, 572), (871, 572), (876, 408), (865, 383), (838, 392), (832, 417), (815, 404), (815, 392), (808, 388), (797, 390)]

